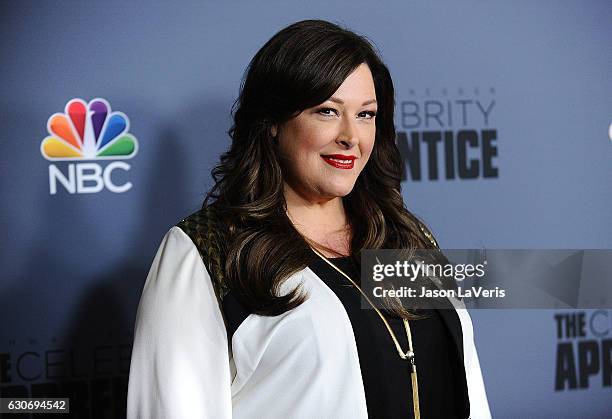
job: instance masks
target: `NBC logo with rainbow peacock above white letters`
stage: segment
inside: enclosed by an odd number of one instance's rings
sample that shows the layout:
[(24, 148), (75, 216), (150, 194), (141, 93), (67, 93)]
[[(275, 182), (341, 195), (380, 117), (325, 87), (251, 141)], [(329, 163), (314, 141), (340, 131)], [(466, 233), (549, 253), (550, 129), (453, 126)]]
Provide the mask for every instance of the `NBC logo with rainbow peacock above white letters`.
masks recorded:
[[(127, 115), (112, 111), (102, 98), (89, 103), (72, 99), (64, 113), (51, 115), (47, 121), (50, 135), (41, 142), (40, 152), (49, 161), (70, 163), (49, 165), (49, 193), (57, 194), (58, 184), (70, 194), (130, 190), (131, 182), (118, 185), (113, 179), (115, 170), (130, 170), (124, 160), (138, 152), (138, 141), (129, 128)], [(91, 160), (113, 161), (100, 164)]]

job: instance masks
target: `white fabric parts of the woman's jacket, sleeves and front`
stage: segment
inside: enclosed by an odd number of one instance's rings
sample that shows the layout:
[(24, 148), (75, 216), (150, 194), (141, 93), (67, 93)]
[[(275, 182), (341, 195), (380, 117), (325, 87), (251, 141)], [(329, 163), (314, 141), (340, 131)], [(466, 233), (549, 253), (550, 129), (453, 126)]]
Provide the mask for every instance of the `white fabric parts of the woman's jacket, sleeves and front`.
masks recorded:
[[(303, 304), (279, 316), (250, 314), (228, 342), (197, 248), (171, 228), (138, 307), (127, 417), (367, 418), (344, 306), (309, 268), (285, 281), (281, 293), (298, 284), (309, 296)], [(472, 322), (467, 310), (457, 313), (471, 417), (490, 418)]]

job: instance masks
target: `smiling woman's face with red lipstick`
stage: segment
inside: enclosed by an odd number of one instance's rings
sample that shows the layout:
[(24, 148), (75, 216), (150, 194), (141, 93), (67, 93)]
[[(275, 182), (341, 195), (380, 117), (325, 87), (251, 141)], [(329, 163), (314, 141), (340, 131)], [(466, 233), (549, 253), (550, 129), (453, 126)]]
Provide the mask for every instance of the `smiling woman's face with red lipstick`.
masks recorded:
[(317, 202), (347, 195), (365, 167), (376, 134), (376, 91), (363, 63), (318, 106), (276, 127), (285, 186)]

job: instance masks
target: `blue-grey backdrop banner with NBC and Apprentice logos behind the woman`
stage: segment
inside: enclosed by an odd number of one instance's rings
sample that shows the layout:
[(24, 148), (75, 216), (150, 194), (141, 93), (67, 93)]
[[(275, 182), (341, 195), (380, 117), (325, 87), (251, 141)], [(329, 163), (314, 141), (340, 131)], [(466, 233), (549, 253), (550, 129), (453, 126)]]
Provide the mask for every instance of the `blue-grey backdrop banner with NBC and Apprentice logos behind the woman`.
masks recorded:
[[(2, 2), (4, 397), (124, 416), (154, 252), (212, 185), (251, 57), (310, 18), (380, 50), (404, 200), (443, 248), (612, 248), (609, 1)], [(494, 417), (609, 417), (612, 310), (472, 317)]]

